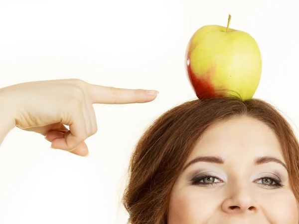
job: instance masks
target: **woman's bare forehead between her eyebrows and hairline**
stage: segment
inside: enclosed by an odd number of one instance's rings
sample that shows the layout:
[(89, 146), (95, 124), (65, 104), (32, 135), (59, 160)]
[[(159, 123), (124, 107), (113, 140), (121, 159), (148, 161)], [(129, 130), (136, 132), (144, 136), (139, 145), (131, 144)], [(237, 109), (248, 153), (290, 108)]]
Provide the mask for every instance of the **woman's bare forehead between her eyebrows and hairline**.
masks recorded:
[(200, 155), (248, 159), (274, 156), (284, 161), (282, 148), (274, 131), (265, 123), (247, 116), (210, 126), (198, 139), (190, 159)]

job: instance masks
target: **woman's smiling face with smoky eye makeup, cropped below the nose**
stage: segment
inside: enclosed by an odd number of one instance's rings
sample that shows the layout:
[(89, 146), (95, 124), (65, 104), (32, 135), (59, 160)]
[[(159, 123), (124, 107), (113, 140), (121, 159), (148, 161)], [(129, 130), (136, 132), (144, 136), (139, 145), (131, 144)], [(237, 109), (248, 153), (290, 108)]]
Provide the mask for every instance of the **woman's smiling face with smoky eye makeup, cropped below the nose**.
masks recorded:
[(167, 224), (299, 224), (275, 133), (249, 117), (211, 126), (172, 189)]

